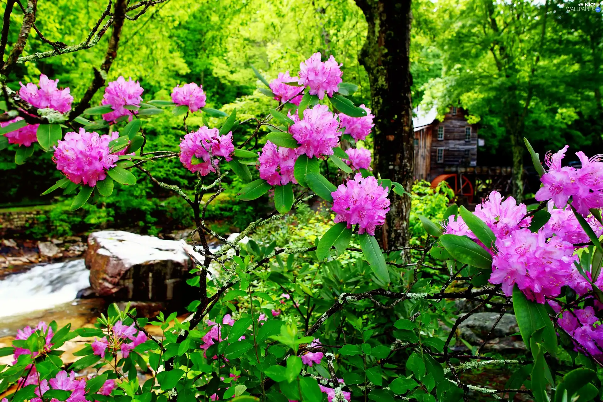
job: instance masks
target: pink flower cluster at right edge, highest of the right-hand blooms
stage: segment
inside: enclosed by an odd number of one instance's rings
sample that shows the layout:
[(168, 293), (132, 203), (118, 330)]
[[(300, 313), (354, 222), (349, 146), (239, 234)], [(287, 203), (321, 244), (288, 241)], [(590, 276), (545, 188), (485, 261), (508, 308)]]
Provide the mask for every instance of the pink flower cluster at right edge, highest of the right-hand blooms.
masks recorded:
[(603, 207), (603, 156), (595, 155), (589, 159), (579, 151), (576, 155), (582, 162), (581, 168), (561, 166), (567, 148), (568, 145), (555, 154), (546, 154), (545, 163), (549, 169), (540, 178), (543, 186), (535, 198), (538, 201), (552, 199), (557, 208), (564, 208), (572, 197), (573, 207), (586, 217), (590, 214), (589, 209)]

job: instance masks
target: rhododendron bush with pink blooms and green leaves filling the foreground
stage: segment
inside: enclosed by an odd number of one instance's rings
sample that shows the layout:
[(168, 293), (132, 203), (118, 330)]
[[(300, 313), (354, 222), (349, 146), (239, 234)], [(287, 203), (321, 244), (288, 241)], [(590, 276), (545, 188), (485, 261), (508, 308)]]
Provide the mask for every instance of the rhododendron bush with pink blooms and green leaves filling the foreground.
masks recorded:
[[(373, 115), (350, 99), (357, 87), (343, 81), (342, 68), (316, 53), (295, 77), (286, 71), (269, 82), (254, 69), (274, 108), (245, 119), (207, 107), (213, 99), (198, 83), (174, 83), (170, 99), (148, 99), (136, 78), (120, 76), (106, 83), (98, 105), (80, 108), (45, 75), (11, 93), (4, 143), (19, 145), (17, 163), (34, 149), (52, 152), (51, 168), (64, 177), (46, 193), (62, 189), (75, 210), (145, 178), (185, 199), (191, 239), (200, 240), (183, 243), (195, 265), (188, 313), (145, 318), (111, 304), (92, 328), (54, 321), (23, 328), (0, 349), (14, 357), (0, 366), (7, 401), (597, 398), (601, 157), (577, 152), (581, 167), (563, 166), (566, 146), (546, 155), (545, 170), (531, 151), (540, 204), (518, 205), (494, 191), (475, 212), (452, 204), (440, 222), (419, 216), (426, 236), (418, 245), (382, 250), (376, 236), (390, 200), (409, 194), (373, 174), (362, 143)], [(146, 121), (166, 114), (182, 121), (179, 151), (148, 151)], [(189, 127), (193, 115), (203, 125)], [(185, 166), (194, 191), (156, 178), (152, 162), (160, 159)], [(274, 211), (226, 239), (205, 219), (232, 177), (245, 183), (241, 204), (264, 197)], [(241, 242), (317, 201), (330, 221), (315, 238), (295, 247), (279, 233)], [(212, 252), (206, 235), (221, 248)], [(474, 307), (458, 311), (461, 300)], [(457, 330), (479, 309), (499, 319), (482, 344), (470, 345)], [(512, 310), (525, 352), (505, 359), (487, 342)], [(64, 363), (62, 348), (76, 336), (88, 342)], [(461, 375), (501, 367), (512, 375), (499, 388)]]

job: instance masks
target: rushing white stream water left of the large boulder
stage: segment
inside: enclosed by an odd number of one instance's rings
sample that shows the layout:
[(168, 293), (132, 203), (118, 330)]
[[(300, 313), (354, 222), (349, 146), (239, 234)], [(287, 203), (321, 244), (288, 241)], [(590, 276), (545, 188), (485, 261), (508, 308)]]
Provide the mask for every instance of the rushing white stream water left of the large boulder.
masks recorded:
[(0, 317), (67, 303), (88, 286), (90, 271), (83, 259), (36, 265), (0, 280)]

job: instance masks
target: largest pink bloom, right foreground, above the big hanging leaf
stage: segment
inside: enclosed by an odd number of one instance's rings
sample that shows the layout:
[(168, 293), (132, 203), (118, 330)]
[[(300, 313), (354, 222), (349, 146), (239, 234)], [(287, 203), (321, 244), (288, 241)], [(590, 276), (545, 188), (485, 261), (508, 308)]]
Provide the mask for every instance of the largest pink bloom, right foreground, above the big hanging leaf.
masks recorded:
[(493, 256), (490, 283), (501, 283), (505, 295), (513, 294), (513, 285), (530, 300), (545, 303), (545, 297), (559, 295), (561, 286), (572, 277), (573, 246), (554, 237), (548, 242), (539, 231), (513, 231), (496, 239), (498, 252)]

